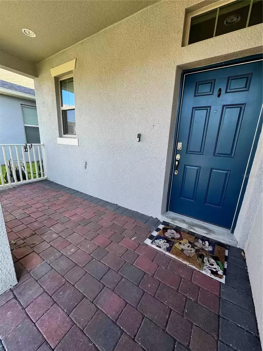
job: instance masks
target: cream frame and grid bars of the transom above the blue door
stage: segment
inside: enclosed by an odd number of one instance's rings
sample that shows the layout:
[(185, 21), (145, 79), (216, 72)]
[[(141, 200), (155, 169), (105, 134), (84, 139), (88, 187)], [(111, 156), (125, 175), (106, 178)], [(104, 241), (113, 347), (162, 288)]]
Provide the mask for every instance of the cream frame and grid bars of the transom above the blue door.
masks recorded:
[[(188, 44), (188, 41), (189, 41), (189, 34), (190, 34), (190, 25), (191, 25), (191, 19), (195, 16), (198, 16), (198, 15), (201, 15), (205, 12), (208, 12), (208, 11), (211, 11), (211, 10), (214, 10), (217, 8), (217, 15), (216, 15), (216, 22), (215, 22), (215, 29), (216, 29), (216, 24), (217, 24), (217, 18), (218, 18), (218, 14), (219, 14), (219, 9), (220, 7), (224, 6), (224, 5), (228, 5), (228, 4), (231, 4), (231, 2), (235, 2), (236, 0), (221, 0), (221, 1), (218, 1), (216, 2), (215, 4), (211, 4), (209, 6), (206, 6), (206, 7), (203, 7), (201, 8), (200, 10), (197, 10), (197, 11), (194, 11), (194, 12), (190, 12), (188, 14), (186, 14), (186, 22), (185, 22), (185, 31), (184, 31), (184, 36), (183, 36), (183, 46), (188, 46), (188, 45), (193, 45), (193, 44), (196, 44), (195, 43), (192, 43), (192, 44)], [(250, 0), (250, 8), (249, 8), (249, 13), (248, 13), (248, 19), (247, 19), (247, 25), (245, 28), (248, 27), (248, 24), (249, 24), (249, 19), (250, 19), (250, 13), (251, 13), (251, 8), (252, 8), (252, 3), (253, 3), (253, 0)], [(242, 29), (245, 29), (245, 28), (242, 28)], [(242, 29), (238, 29), (238, 30), (242, 30)], [(212, 38), (209, 38), (209, 39), (213, 39), (215, 38), (215, 32), (214, 31), (214, 35)], [(235, 31), (235, 32), (238, 32), (238, 31)], [(227, 33), (228, 34), (228, 33)], [(225, 34), (221, 34), (221, 35), (225, 35)], [(221, 35), (218, 35), (217, 37), (221, 37)], [(205, 39), (205, 40), (208, 40), (208, 39)], [(201, 41), (204, 41), (204, 40), (201, 40)], [(197, 42), (200, 42), (200, 41), (197, 41)]]

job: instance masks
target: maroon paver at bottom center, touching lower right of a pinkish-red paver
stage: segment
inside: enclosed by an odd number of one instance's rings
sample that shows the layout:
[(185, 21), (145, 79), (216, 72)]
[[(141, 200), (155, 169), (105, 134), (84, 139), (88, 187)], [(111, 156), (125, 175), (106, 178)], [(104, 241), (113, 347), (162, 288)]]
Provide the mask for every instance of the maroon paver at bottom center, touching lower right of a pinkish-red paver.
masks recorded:
[(142, 322), (143, 315), (133, 306), (127, 304), (122, 311), (117, 324), (132, 338), (135, 337)]

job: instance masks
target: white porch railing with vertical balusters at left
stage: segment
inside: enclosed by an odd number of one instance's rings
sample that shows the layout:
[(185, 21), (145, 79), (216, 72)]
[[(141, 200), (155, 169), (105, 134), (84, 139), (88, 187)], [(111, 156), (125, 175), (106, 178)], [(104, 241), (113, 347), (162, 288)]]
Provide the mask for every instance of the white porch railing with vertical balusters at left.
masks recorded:
[(0, 188), (46, 179), (42, 158), (43, 146), (0, 144)]

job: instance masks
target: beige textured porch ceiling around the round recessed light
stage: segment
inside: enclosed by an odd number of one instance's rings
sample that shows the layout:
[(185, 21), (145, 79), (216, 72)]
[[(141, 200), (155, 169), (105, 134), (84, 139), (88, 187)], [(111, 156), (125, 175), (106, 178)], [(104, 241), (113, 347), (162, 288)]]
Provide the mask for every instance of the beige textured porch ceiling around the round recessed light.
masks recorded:
[[(0, 49), (40, 62), (158, 0), (1, 1)], [(36, 38), (22, 33), (29, 28)]]

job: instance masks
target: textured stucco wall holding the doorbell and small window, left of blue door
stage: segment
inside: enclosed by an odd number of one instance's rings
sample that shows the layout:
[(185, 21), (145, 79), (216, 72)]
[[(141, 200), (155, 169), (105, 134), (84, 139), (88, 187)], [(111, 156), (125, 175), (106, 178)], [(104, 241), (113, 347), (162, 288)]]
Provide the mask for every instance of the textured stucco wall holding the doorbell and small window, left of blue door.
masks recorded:
[[(261, 25), (181, 47), (186, 6), (197, 3), (160, 2), (38, 64), (35, 92), (49, 179), (160, 217), (181, 69), (262, 51)], [(50, 68), (74, 58), (79, 146), (58, 145)]]

